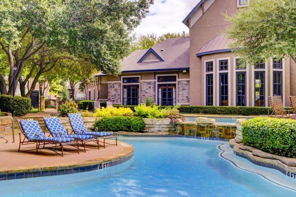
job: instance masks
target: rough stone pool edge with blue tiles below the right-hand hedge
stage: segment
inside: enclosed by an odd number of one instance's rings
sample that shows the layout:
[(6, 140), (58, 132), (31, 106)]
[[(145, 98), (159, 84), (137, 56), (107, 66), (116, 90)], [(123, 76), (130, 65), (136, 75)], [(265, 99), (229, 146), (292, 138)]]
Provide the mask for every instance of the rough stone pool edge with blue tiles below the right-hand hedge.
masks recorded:
[[(290, 177), (296, 180), (296, 166), (290, 166), (283, 162), (284, 159), (291, 160), (293, 158), (285, 158), (285, 157), (280, 157), (280, 156), (275, 156), (269, 153), (265, 153), (263, 151), (260, 151), (259, 149), (245, 146), (242, 143), (236, 143), (234, 139), (229, 141), (229, 146), (233, 149), (233, 153), (236, 156), (245, 158), (253, 164), (276, 169), (282, 172), (283, 174), (285, 174), (287, 177)], [(240, 146), (244, 146), (244, 147), (241, 148)], [(263, 157), (262, 154), (267, 155), (268, 158)]]

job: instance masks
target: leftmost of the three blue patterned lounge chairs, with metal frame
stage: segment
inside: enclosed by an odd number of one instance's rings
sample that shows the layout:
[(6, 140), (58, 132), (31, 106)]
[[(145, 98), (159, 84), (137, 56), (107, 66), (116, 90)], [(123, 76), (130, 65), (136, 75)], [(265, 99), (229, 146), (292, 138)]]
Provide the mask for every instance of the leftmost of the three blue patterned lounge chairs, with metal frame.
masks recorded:
[[(24, 139), (21, 138), (21, 133), (19, 133), (20, 136), (20, 144), (18, 148), (18, 152), (20, 152), (21, 145), (27, 145), (27, 144), (35, 144), (36, 143), (36, 149), (31, 150), (25, 150), (22, 152), (32, 151), (36, 150), (38, 154), (39, 149), (49, 149), (55, 152), (56, 154), (64, 157), (64, 146), (74, 146), (77, 148), (77, 153), (79, 154), (79, 142), (75, 141), (74, 138), (70, 137), (46, 137), (45, 133), (41, 130), (39, 124), (37, 121), (34, 121), (33, 119), (17, 119), (18, 126), (21, 130), (21, 132), (24, 134)], [(27, 139), (27, 140), (26, 140)], [(42, 143), (43, 147), (40, 148), (40, 143)], [(53, 144), (54, 147), (45, 147), (45, 145)], [(61, 152), (59, 153), (57, 151), (57, 147), (61, 147)]]

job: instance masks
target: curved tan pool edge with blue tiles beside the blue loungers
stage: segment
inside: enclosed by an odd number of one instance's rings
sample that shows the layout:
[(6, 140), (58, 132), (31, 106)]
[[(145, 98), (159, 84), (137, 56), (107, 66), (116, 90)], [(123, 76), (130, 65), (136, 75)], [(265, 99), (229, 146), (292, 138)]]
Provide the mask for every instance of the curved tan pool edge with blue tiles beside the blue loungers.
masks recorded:
[[(124, 142), (125, 143), (125, 142)], [(134, 156), (134, 147), (125, 143), (123, 149), (114, 155), (87, 160), (83, 162), (68, 162), (65, 164), (58, 164), (55, 166), (28, 166), (16, 167), (10, 170), (0, 171), (0, 181), (22, 179), (22, 178), (36, 178), (44, 176), (56, 176), (65, 174), (74, 174), (79, 172), (93, 171), (112, 167), (122, 164)]]

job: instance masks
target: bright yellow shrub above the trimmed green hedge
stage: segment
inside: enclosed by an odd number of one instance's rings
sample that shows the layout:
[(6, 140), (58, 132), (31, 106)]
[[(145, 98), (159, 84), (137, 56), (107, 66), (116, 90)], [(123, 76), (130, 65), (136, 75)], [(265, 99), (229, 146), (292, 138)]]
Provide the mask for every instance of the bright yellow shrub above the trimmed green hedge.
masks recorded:
[(133, 111), (128, 107), (102, 107), (97, 109), (93, 114), (95, 117), (106, 117), (106, 116), (132, 116)]

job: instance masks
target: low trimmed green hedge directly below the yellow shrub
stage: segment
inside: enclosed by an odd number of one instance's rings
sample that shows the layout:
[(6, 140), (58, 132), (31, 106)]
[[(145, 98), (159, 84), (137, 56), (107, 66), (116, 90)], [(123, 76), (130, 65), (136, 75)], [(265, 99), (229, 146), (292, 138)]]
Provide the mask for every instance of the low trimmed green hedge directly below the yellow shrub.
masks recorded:
[(94, 124), (99, 131), (132, 131), (141, 132), (145, 129), (143, 118), (133, 116), (104, 117)]

